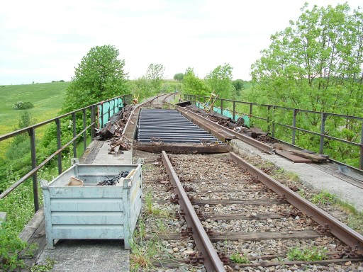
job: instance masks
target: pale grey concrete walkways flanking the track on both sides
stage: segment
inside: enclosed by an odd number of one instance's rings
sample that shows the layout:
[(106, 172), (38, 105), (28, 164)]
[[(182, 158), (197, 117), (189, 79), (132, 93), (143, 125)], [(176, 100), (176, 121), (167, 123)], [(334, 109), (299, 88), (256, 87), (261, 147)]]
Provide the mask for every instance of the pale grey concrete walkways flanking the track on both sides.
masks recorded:
[[(336, 194), (363, 211), (363, 190), (345, 182), (344, 176), (331, 175), (313, 164), (294, 164), (277, 154), (266, 154), (240, 140), (233, 140), (233, 148), (246, 156), (259, 156), (297, 174), (303, 183)], [(86, 149), (82, 164), (131, 164), (132, 150), (114, 157), (108, 154), (108, 142), (94, 140)], [(134, 158), (135, 159), (135, 158)], [(55, 249), (45, 249), (44, 215), (40, 210), (20, 235), (24, 240), (37, 242), (39, 249), (26, 262), (45, 263), (55, 260), (52, 271), (129, 271), (129, 251), (121, 240), (60, 240)]]

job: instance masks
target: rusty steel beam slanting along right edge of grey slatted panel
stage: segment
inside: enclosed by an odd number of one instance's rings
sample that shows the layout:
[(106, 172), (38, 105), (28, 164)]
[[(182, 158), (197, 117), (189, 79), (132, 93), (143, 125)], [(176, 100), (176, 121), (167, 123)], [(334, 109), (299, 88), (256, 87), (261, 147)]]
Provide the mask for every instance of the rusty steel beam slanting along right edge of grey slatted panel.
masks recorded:
[[(230, 130), (229, 128), (223, 127), (223, 125), (219, 125), (218, 123), (214, 123), (211, 120), (208, 120), (207, 118), (203, 118), (203, 116), (198, 115), (192, 111), (189, 111), (186, 108), (181, 108), (179, 106), (176, 106), (177, 111), (181, 113), (181, 115), (188, 116), (187, 118), (193, 118), (193, 122), (197, 122), (197, 124), (205, 125), (211, 130), (211, 134), (218, 137), (224, 137), (224, 140), (231, 140), (233, 138), (237, 138), (239, 140), (242, 140), (243, 142), (247, 142), (247, 144), (252, 145), (254, 147), (257, 147), (258, 149), (261, 149), (264, 152), (267, 152), (269, 154), (274, 154), (274, 148), (270, 145), (266, 145), (263, 142), (259, 142), (251, 137), (248, 137), (246, 135), (243, 135), (242, 133), (235, 132), (234, 130)], [(190, 119), (189, 119), (190, 120)], [(194, 121), (198, 120), (198, 121)], [(213, 134), (215, 133), (215, 134)], [(224, 133), (224, 136), (223, 136)], [(230, 137), (225, 137), (225, 134), (228, 133)], [(232, 137), (231, 137), (232, 136)], [(220, 138), (221, 139), (221, 138)]]

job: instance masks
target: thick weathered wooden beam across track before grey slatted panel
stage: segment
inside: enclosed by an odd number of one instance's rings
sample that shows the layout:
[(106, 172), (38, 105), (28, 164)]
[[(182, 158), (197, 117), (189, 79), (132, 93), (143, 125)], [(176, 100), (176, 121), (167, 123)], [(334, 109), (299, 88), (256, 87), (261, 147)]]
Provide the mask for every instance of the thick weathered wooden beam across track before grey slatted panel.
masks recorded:
[(135, 142), (134, 149), (146, 152), (181, 152), (181, 153), (227, 153), (232, 151), (230, 145), (201, 145), (201, 144), (179, 144), (179, 143), (147, 143)]

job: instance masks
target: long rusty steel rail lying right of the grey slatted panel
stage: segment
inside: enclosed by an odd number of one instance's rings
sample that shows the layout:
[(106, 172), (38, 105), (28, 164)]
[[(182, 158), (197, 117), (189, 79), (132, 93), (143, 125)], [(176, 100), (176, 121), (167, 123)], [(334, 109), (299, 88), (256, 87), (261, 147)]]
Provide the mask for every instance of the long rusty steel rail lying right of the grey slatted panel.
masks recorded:
[(264, 144), (263, 142), (259, 142), (251, 137), (242, 135), (241, 133), (235, 132), (234, 130), (230, 130), (228, 128), (223, 127), (223, 125), (219, 125), (217, 123), (214, 123), (211, 120), (208, 120), (207, 118), (204, 118), (201, 115), (198, 115), (192, 111), (189, 111), (186, 108), (182, 108), (179, 106), (175, 106), (177, 108), (177, 111), (179, 111), (179, 113), (181, 113), (182, 115), (189, 115), (189, 117), (194, 118), (194, 119), (199, 119), (202, 120), (203, 123), (205, 123), (206, 125), (208, 125), (209, 128), (215, 128), (215, 132), (218, 133), (218, 130), (222, 130), (224, 132), (227, 132), (230, 135), (234, 135), (237, 139), (242, 140), (243, 142), (247, 142), (247, 144), (252, 145), (254, 147), (257, 147), (258, 149), (261, 149), (264, 152), (267, 152), (269, 154), (274, 154), (274, 148)]

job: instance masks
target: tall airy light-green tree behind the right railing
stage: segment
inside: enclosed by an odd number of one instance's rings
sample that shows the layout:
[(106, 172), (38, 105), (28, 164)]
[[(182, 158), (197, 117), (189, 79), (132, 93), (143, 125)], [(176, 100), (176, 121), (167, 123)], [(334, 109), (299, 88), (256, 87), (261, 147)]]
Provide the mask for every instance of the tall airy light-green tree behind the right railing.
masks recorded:
[[(250, 100), (280, 106), (363, 115), (363, 13), (348, 4), (335, 8), (308, 4), (298, 21), (271, 36), (271, 45), (252, 64)], [(320, 115), (298, 115), (300, 128), (320, 132)], [(291, 114), (274, 114), (291, 125)], [(359, 142), (361, 125), (346, 118), (328, 118), (325, 135)], [(286, 132), (277, 133), (284, 137)], [(318, 151), (319, 137), (298, 132), (298, 145)], [(325, 140), (325, 154), (357, 166), (359, 149)]]

